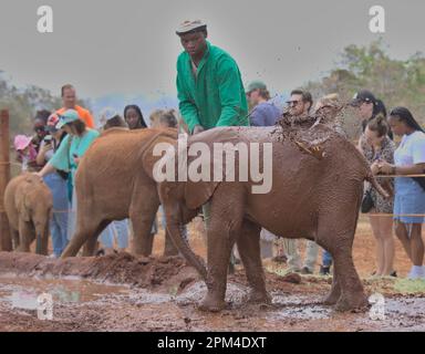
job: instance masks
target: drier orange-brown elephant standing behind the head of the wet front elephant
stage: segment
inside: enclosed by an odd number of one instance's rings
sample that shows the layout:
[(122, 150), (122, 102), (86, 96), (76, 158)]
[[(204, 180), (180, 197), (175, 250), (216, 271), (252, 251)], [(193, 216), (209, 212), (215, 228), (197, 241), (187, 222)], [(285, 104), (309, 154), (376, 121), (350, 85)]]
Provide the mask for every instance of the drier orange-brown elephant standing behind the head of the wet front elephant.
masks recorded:
[[(153, 179), (152, 149), (160, 140), (176, 142), (177, 129), (111, 128), (93, 143), (75, 174), (76, 228), (62, 258), (93, 256), (99, 235), (113, 220), (129, 218), (134, 252), (149, 256), (152, 225), (159, 206)], [(166, 256), (177, 254), (166, 236)]]

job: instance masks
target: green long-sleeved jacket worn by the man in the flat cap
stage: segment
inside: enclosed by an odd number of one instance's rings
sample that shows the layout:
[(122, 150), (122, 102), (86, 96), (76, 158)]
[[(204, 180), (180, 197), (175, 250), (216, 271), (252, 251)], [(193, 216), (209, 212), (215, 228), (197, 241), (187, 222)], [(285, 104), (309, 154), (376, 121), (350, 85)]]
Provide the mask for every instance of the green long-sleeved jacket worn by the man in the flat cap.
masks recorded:
[(197, 77), (187, 52), (177, 59), (177, 96), (183, 118), (193, 132), (200, 124), (248, 125), (248, 105), (238, 64), (224, 50), (207, 42)]

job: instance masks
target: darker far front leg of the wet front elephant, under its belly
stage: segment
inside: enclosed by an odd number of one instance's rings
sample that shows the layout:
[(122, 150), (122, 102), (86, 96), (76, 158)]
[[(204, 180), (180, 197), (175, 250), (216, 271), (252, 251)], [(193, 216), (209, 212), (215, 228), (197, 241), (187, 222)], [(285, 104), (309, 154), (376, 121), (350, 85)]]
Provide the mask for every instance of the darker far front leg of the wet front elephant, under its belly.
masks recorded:
[(248, 283), (251, 287), (249, 302), (271, 303), (271, 298), (266, 291), (260, 251), (260, 231), (261, 228), (258, 225), (245, 219), (237, 246)]

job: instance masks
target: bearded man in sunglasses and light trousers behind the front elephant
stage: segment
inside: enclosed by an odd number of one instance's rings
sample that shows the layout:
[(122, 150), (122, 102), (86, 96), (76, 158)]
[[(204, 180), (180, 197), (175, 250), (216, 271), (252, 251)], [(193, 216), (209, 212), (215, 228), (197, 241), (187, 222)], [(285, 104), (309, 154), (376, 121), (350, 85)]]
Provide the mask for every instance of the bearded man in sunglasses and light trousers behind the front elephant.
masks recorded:
[[(293, 90), (291, 97), (287, 102), (289, 113), (294, 116), (308, 115), (313, 98), (310, 92), (303, 90)], [(289, 271), (301, 272), (303, 274), (312, 274), (314, 272), (315, 260), (318, 258), (319, 247), (315, 242), (307, 241), (307, 254), (304, 266), (301, 266), (301, 257), (298, 251), (297, 239), (281, 239), (288, 258)]]

